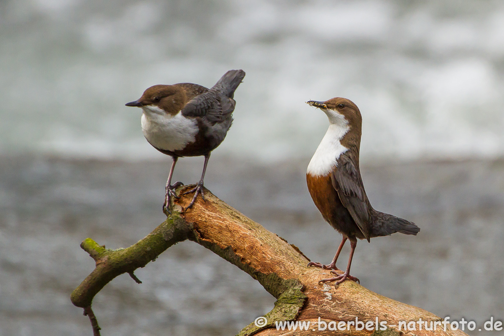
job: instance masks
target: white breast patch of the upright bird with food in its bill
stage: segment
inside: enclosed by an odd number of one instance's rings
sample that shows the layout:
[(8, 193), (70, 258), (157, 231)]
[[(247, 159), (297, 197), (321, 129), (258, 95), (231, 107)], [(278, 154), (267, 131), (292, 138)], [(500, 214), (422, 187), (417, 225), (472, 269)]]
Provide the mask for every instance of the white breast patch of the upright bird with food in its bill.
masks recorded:
[(308, 164), (306, 173), (315, 177), (326, 176), (338, 165), (340, 155), (348, 151), (340, 141), (349, 129), (348, 124), (343, 122), (329, 125), (324, 139)]

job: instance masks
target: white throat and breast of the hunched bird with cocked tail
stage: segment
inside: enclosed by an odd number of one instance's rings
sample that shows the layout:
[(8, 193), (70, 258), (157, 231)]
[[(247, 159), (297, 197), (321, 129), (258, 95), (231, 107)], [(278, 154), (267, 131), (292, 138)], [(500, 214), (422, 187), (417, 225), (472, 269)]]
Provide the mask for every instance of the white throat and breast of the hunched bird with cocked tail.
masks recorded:
[(174, 116), (166, 114), (156, 106), (144, 106), (142, 109), (142, 131), (154, 147), (176, 151), (195, 142), (198, 133), (196, 120), (186, 118), (180, 112)]

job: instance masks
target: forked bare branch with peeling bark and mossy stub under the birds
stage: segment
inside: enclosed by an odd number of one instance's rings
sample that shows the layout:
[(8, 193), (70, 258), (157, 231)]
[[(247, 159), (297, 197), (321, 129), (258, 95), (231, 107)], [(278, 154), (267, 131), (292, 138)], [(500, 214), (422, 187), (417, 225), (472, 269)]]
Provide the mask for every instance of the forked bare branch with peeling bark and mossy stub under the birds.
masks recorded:
[[(181, 194), (191, 186), (179, 188)], [(181, 197), (172, 208), (172, 215), (147, 237), (124, 249), (109, 250), (88, 238), (81, 247), (96, 261), (93, 272), (74, 290), (72, 303), (82, 307), (85, 312), (92, 312), (94, 296), (116, 276), (129, 273), (138, 281), (133, 272), (144, 267), (149, 261), (170, 246), (183, 240), (192, 240), (212, 250), (220, 257), (235, 264), (241, 270), (256, 279), (271, 295), (277, 298), (275, 307), (265, 315), (267, 323), (258, 327), (254, 322), (245, 326), (239, 333), (245, 335), (465, 335), (460, 330), (446, 331), (443, 324), (437, 324), (436, 330), (419, 330), (418, 321), (427, 321), (427, 327), (443, 319), (423, 309), (413, 307), (379, 294), (373, 293), (352, 281), (345, 281), (337, 288), (334, 284), (319, 284), (319, 280), (328, 278), (329, 271), (315, 267), (306, 267), (309, 259), (299, 249), (266, 230), (260, 224), (243, 216), (205, 190), (206, 201), (198, 198), (192, 209), (181, 213), (191, 197)], [(94, 316), (93, 316), (94, 318)], [(319, 318), (332, 326), (339, 321), (350, 325), (351, 330), (319, 330)], [(386, 330), (358, 330), (354, 323), (387, 321)], [(275, 321), (310, 321), (308, 330), (288, 332), (277, 330)], [(416, 330), (399, 331), (399, 322), (416, 323)], [(93, 325), (95, 334), (99, 326)], [(93, 321), (92, 321), (93, 323)], [(353, 324), (353, 325), (352, 325)], [(314, 327), (314, 329), (313, 329)], [(379, 325), (380, 327), (380, 325)]]

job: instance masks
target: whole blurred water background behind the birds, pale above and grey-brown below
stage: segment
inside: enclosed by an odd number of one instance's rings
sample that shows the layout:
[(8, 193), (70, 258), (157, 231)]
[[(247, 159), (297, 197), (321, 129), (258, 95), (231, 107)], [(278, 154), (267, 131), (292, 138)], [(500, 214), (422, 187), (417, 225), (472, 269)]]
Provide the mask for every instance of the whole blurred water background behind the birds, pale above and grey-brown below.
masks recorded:
[[(371, 203), (422, 229), (361, 242), (353, 275), (452, 320), (504, 318), (504, 3), (4, 0), (1, 336), (90, 334), (69, 300), (93, 268), (80, 242), (129, 246), (164, 218), (170, 159), (124, 103), (229, 69), (247, 75), (210, 190), (329, 262), (340, 237), (304, 182), (328, 121), (304, 102), (349, 98)], [(196, 182), (202, 164), (181, 159), (174, 177)], [(234, 334), (273, 307), (191, 242), (137, 275), (97, 295), (104, 334)]]

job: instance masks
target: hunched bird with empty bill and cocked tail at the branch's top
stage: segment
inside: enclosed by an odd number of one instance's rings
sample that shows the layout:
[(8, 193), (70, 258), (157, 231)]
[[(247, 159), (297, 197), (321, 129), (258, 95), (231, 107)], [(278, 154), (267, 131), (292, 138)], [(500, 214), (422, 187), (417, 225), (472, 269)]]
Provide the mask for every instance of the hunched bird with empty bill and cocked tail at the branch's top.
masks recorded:
[(170, 212), (170, 196), (178, 198), (174, 190), (182, 185), (181, 182), (171, 184), (179, 157), (205, 156), (200, 181), (194, 189), (184, 193), (195, 193), (185, 209), (193, 206), (198, 193), (205, 200), (203, 179), (208, 159), (231, 127), (236, 104), (233, 94), (243, 77), (244, 71), (230, 70), (211, 89), (192, 83), (154, 85), (145, 90), (140, 99), (126, 104), (142, 108), (142, 131), (145, 139), (152, 147), (173, 158), (166, 182), (164, 212)]

